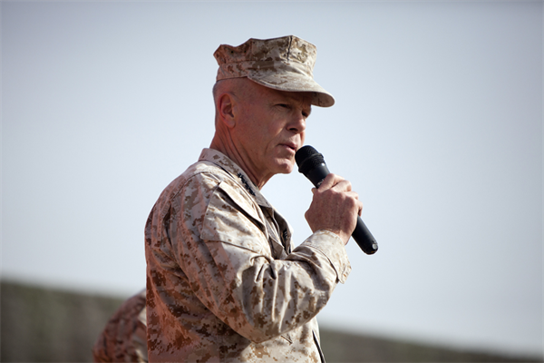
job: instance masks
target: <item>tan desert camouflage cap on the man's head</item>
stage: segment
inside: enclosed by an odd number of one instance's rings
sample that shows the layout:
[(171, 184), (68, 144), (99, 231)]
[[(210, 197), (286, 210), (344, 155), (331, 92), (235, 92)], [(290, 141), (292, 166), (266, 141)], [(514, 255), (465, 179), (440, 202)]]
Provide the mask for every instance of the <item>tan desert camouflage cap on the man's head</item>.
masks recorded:
[(335, 104), (332, 94), (314, 81), (316, 45), (294, 35), (251, 38), (238, 46), (221, 44), (213, 55), (219, 64), (217, 81), (248, 77), (279, 91), (314, 93), (312, 104), (316, 106)]

